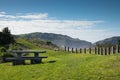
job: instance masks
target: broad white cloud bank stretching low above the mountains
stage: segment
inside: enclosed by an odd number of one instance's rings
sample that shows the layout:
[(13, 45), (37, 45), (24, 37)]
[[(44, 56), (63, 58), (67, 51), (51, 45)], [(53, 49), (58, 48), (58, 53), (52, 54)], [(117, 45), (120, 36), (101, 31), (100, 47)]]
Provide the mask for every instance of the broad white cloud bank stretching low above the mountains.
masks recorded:
[(0, 12), (0, 29), (9, 27), (12, 34), (30, 32), (58, 33), (92, 42), (114, 35), (110, 32), (107, 34), (107, 30), (94, 29), (94, 27), (103, 22), (104, 21), (101, 20), (81, 21), (49, 19), (47, 13), (14, 16)]

